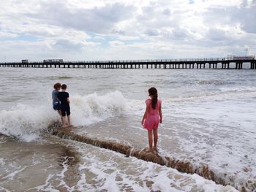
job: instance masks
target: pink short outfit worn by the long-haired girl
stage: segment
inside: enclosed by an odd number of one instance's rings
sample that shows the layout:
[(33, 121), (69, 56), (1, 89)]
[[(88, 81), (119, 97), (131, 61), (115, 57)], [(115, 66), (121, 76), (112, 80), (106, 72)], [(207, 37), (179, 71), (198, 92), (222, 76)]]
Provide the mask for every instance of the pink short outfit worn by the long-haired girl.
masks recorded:
[(147, 99), (145, 101), (146, 106), (149, 107), (148, 114), (146, 115), (146, 119), (143, 124), (143, 128), (148, 129), (148, 131), (151, 131), (154, 128), (158, 128), (159, 124), (159, 107), (162, 104), (162, 101), (160, 99), (157, 99), (157, 106), (154, 110), (151, 105), (151, 99)]

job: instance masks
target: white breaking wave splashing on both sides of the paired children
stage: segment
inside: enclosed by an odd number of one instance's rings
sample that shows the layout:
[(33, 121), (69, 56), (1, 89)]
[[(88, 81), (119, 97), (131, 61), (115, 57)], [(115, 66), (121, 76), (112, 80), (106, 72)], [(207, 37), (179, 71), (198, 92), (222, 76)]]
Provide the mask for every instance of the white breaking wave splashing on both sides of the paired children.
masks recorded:
[[(74, 126), (88, 126), (116, 116), (127, 109), (127, 101), (120, 91), (99, 96), (92, 93), (70, 98), (71, 120)], [(31, 142), (60, 117), (51, 101), (42, 105), (17, 104), (11, 110), (0, 111), (0, 134)]]

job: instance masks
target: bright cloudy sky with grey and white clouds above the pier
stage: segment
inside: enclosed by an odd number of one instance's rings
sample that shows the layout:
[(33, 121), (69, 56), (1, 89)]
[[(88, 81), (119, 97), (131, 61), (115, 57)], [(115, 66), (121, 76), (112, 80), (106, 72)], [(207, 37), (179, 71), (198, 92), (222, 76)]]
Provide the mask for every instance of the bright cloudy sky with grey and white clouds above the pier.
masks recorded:
[(0, 0), (0, 7), (0, 62), (256, 54), (256, 0)]

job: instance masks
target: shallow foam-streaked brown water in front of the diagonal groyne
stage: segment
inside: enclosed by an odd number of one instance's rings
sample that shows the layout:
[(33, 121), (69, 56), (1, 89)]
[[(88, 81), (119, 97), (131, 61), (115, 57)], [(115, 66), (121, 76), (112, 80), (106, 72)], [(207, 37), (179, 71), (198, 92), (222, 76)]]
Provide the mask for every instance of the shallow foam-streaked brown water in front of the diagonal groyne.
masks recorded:
[(0, 161), (1, 191), (235, 191), (196, 174), (56, 137), (29, 143), (5, 138), (0, 153), (10, 149)]

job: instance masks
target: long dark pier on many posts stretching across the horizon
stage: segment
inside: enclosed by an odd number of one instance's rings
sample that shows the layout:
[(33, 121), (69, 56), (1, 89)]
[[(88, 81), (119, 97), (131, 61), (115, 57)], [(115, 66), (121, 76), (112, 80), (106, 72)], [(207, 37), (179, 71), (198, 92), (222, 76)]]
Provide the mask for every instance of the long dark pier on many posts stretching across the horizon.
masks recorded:
[(83, 69), (256, 69), (256, 60), (197, 58), (119, 61), (8, 62), (0, 67)]

